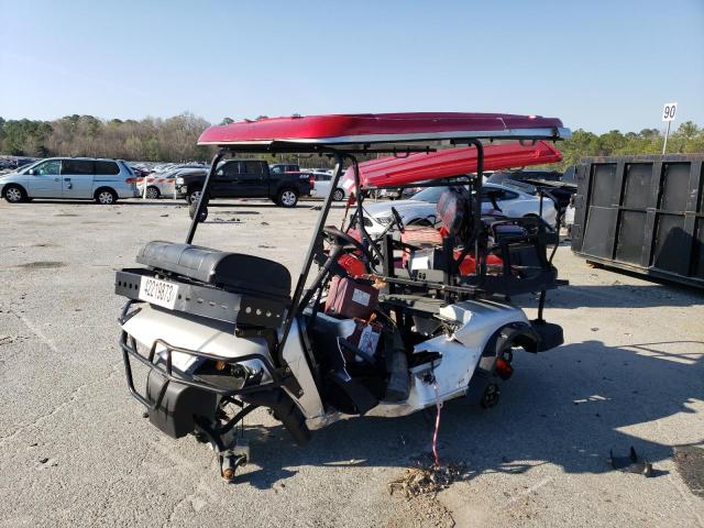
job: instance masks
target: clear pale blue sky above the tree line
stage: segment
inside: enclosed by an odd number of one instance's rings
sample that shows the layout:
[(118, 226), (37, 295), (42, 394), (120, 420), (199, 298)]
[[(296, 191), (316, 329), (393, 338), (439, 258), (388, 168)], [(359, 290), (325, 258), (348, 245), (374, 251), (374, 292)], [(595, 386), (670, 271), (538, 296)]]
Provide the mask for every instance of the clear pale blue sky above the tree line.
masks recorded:
[[(704, 125), (704, 0), (0, 0), (0, 116), (486, 111)], [(678, 122), (675, 122), (675, 125)]]

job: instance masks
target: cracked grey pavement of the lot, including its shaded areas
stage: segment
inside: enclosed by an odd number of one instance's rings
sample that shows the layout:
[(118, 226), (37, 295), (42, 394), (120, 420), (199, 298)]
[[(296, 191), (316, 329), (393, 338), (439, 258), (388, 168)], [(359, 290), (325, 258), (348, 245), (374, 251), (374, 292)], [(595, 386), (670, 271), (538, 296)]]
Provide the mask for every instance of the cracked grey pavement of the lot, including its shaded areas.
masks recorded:
[[(318, 213), (309, 205), (216, 204), (196, 242), (279, 260), (297, 276)], [(2, 202), (0, 226), (0, 527), (704, 528), (704, 499), (672, 461), (672, 447), (704, 440), (704, 293), (593, 270), (561, 248), (571, 285), (548, 296), (546, 315), (565, 344), (517, 353), (495, 409), (442, 409), (440, 455), (464, 461), (466, 481), (437, 497), (389, 495), (429, 450), (424, 414), (345, 420), (301, 449), (257, 410), (246, 420), (253, 462), (227, 485), (208, 447), (141, 417), (117, 345), (114, 270), (150, 240), (183, 240), (187, 209)], [(515, 300), (535, 315), (534, 298)], [(630, 446), (654, 477), (608, 466), (610, 449)]]

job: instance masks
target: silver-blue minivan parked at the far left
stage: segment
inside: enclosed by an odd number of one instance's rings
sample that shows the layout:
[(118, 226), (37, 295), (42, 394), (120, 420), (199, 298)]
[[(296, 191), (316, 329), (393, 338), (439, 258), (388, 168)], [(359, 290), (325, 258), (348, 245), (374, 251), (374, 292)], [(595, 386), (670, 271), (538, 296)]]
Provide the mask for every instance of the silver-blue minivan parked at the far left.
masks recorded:
[(136, 177), (121, 160), (51, 157), (0, 177), (10, 204), (32, 198), (90, 199), (110, 205), (139, 196)]

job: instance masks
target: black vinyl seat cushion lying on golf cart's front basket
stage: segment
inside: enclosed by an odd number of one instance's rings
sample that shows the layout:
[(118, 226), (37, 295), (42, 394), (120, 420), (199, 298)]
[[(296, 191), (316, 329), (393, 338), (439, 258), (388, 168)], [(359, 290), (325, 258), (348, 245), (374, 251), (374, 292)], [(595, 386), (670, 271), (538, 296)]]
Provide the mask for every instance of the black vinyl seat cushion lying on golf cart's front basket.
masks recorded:
[(235, 293), (290, 300), (290, 273), (268, 258), (153, 241), (140, 250), (136, 262)]

